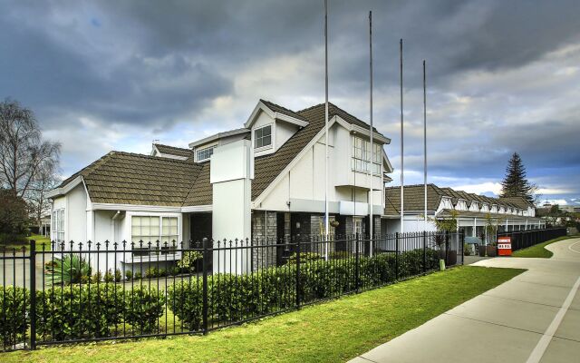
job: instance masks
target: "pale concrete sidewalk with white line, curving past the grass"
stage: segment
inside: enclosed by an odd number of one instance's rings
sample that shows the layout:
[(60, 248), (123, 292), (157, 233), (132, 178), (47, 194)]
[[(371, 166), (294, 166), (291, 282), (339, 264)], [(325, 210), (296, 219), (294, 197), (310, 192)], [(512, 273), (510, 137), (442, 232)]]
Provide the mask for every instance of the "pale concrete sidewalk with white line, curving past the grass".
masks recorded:
[(580, 239), (547, 249), (475, 263), (527, 271), (351, 362), (580, 362)]

